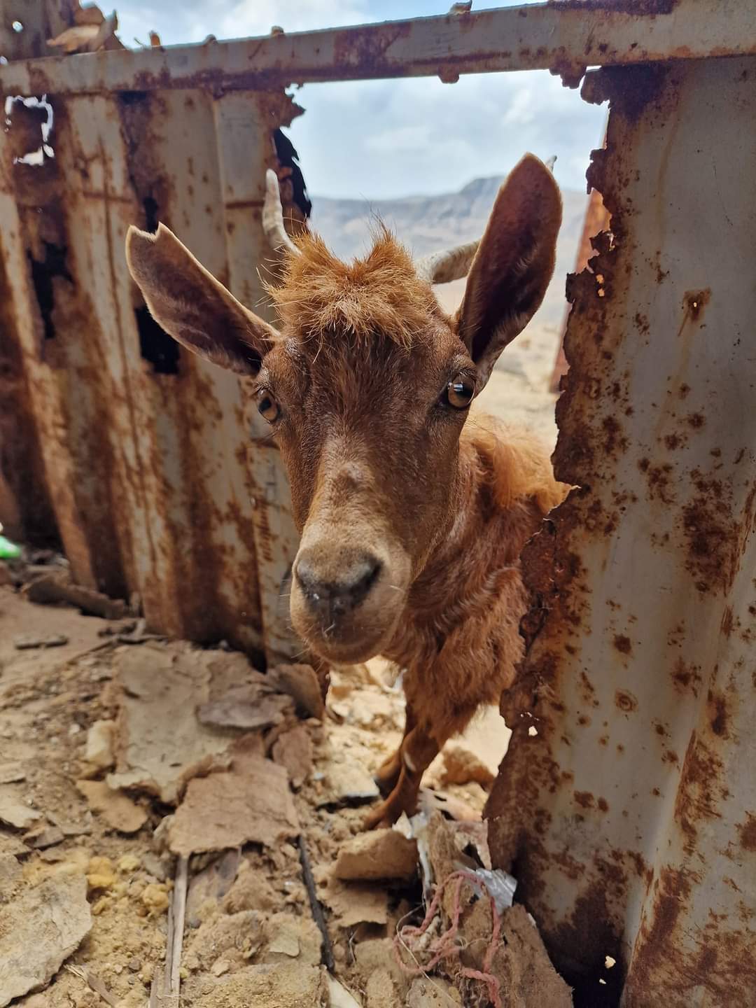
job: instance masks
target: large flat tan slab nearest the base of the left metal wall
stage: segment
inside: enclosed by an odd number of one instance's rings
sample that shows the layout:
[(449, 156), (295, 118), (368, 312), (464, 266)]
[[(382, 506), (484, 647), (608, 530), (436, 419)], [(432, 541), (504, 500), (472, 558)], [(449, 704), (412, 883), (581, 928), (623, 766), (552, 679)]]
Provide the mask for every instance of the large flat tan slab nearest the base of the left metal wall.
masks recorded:
[[(228, 733), (195, 715), (210, 699), (213, 652), (143, 644), (119, 656), (123, 694), (116, 721), (112, 788), (138, 787), (175, 804), (186, 777), (225, 753)], [(205, 770), (212, 769), (205, 765)]]

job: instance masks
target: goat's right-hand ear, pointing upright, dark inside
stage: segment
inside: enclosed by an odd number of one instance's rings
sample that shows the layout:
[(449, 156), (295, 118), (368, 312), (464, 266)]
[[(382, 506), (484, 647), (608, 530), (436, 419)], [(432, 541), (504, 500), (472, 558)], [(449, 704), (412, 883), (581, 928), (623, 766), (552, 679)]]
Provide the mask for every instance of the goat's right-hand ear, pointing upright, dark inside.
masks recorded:
[(499, 190), (457, 312), (460, 339), (483, 384), (543, 300), (560, 224), (561, 197), (553, 175), (526, 154)]

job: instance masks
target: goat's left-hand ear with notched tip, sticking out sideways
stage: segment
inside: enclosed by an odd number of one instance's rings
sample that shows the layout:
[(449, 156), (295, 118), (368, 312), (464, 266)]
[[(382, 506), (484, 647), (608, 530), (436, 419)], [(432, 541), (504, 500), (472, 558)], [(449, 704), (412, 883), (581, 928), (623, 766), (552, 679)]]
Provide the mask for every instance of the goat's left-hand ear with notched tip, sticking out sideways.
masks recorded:
[(163, 225), (129, 228), (126, 261), (155, 322), (213, 364), (256, 375), (277, 337), (212, 276)]

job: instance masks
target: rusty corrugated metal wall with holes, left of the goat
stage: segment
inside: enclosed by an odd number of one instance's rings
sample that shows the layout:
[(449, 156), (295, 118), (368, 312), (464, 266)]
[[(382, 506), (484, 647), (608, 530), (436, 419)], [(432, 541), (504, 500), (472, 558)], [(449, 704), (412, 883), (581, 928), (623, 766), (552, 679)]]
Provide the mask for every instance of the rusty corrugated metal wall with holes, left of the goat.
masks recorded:
[(54, 522), (76, 580), (136, 592), (155, 629), (293, 653), (277, 600), (296, 537), (277, 452), (257, 444), (248, 465), (260, 431), (244, 382), (151, 324), (124, 238), (164, 222), (265, 314), (264, 173), (272, 131), (298, 110), (282, 92), (48, 98), (54, 156), (18, 162), (40, 137), (19, 103), (0, 135), (12, 522), (28, 516), (37, 538)]

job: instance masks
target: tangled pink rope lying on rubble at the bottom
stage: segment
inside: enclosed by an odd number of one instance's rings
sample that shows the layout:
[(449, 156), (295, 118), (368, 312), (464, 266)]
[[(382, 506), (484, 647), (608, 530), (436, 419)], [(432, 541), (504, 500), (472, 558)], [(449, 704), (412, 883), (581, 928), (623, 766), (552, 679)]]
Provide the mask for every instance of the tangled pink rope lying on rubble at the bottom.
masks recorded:
[[(428, 947), (428, 951), (430, 952), (430, 961), (428, 963), (420, 967), (407, 966), (401, 958), (401, 947), (405, 946), (409, 949), (410, 953), (414, 954), (414, 951), (417, 948), (418, 939), (430, 926), (430, 922), (438, 909), (438, 904), (440, 903), (442, 896), (444, 895), (444, 890), (450, 882), (456, 882), (457, 889), (454, 894), (452, 921), (449, 927), (443, 934), (430, 942)], [(451, 959), (459, 954), (460, 949), (456, 943), (456, 939), (457, 933), (460, 929), (460, 917), (462, 916), (462, 886), (465, 882), (475, 886), (482, 896), (488, 896), (491, 906), (492, 926), (491, 940), (488, 943), (486, 955), (483, 958), (483, 970), (472, 970), (467, 966), (461, 966), (460, 970), (464, 977), (469, 977), (471, 980), (479, 980), (481, 983), (485, 984), (488, 988), (488, 995), (494, 1008), (503, 1008), (499, 980), (491, 973), (491, 965), (493, 964), (494, 955), (499, 946), (499, 938), (501, 935), (501, 919), (499, 918), (499, 914), (496, 912), (496, 903), (494, 902), (493, 896), (491, 896), (486, 888), (485, 882), (478, 878), (474, 872), (464, 870), (452, 872), (451, 875), (448, 875), (447, 878), (444, 879), (442, 884), (436, 887), (435, 893), (433, 894), (430, 905), (425, 912), (425, 917), (422, 923), (419, 924), (419, 926), (415, 926), (414, 924), (405, 924), (397, 931), (394, 937), (394, 955), (396, 956), (396, 961), (399, 966), (405, 973), (412, 977), (417, 977), (420, 976), (420, 974), (424, 974), (432, 970), (438, 965), (438, 963), (440, 963), (442, 960)]]

